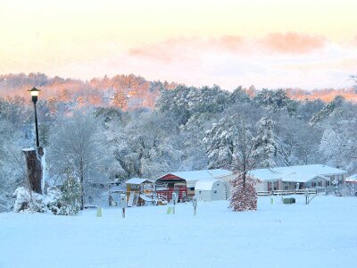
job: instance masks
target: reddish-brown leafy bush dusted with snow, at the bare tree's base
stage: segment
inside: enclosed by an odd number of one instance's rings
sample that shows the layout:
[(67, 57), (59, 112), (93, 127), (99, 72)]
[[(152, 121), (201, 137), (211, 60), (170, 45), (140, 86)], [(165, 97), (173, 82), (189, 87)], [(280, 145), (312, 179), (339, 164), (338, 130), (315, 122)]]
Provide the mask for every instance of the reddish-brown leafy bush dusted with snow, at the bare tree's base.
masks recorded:
[(246, 176), (245, 183), (243, 173), (239, 173), (236, 179), (230, 181), (233, 184), (232, 196), (229, 207), (233, 211), (256, 210), (258, 195), (254, 185), (256, 181), (252, 177)]

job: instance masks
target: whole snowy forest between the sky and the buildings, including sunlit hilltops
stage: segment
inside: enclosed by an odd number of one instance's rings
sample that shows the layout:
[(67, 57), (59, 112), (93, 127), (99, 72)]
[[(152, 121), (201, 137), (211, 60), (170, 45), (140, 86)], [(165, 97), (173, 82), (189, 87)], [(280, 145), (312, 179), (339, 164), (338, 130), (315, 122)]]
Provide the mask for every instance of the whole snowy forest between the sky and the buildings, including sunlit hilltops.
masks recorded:
[(26, 184), (21, 149), (35, 146), (29, 90), (37, 103), (48, 186), (95, 184), (162, 172), (236, 171), (325, 163), (357, 172), (353, 88), (303, 91), (187, 87), (134, 75), (90, 81), (45, 74), (0, 76), (0, 211)]

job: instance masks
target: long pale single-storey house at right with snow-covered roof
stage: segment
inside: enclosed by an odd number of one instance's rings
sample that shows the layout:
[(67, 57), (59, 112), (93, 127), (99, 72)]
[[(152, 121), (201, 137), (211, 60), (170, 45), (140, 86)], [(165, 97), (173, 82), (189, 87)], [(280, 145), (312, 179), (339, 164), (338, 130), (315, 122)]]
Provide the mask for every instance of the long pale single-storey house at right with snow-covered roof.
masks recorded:
[(303, 188), (334, 188), (345, 184), (344, 170), (324, 164), (306, 164), (250, 171), (260, 180), (257, 191), (293, 190)]

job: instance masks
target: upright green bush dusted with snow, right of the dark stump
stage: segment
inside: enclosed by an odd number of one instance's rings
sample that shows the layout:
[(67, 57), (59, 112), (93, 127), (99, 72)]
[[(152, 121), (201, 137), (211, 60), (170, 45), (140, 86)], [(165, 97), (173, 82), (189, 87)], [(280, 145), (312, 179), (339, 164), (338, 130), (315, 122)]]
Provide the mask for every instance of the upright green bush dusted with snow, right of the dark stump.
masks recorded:
[(82, 189), (78, 180), (74, 179), (73, 177), (69, 177), (64, 180), (59, 214), (78, 214), (81, 205), (81, 195)]

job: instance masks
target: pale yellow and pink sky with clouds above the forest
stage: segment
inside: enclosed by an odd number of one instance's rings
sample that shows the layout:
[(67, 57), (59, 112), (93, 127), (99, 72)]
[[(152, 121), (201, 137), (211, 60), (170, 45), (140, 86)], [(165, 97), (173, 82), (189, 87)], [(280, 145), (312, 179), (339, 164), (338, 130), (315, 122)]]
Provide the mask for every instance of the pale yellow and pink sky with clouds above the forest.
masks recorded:
[(356, 0), (0, 1), (0, 73), (346, 88)]

